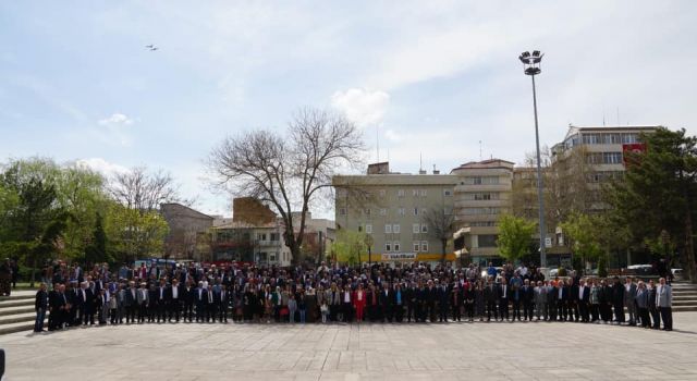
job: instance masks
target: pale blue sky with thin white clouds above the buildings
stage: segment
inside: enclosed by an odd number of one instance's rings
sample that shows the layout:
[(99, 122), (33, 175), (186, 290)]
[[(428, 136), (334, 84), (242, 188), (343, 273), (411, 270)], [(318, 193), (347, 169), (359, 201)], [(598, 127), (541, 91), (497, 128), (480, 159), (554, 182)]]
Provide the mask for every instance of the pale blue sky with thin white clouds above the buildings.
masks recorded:
[(542, 146), (603, 120), (695, 135), (695, 1), (2, 1), (0, 161), (147, 165), (230, 216), (210, 150), (314, 107), (393, 171), (522, 163), (534, 49)]

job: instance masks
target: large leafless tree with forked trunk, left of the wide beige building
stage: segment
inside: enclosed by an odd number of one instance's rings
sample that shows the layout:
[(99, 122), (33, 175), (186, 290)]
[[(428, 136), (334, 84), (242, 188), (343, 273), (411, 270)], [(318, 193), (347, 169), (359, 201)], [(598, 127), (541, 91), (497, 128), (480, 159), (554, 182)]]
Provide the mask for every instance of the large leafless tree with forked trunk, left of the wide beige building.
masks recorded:
[[(360, 131), (344, 116), (301, 109), (286, 134), (254, 130), (227, 137), (211, 151), (208, 165), (219, 185), (278, 211), (285, 245), (297, 263), (311, 201), (323, 190), (330, 193), (338, 168), (360, 163), (363, 151)], [(294, 229), (292, 212), (298, 209), (299, 229)]]

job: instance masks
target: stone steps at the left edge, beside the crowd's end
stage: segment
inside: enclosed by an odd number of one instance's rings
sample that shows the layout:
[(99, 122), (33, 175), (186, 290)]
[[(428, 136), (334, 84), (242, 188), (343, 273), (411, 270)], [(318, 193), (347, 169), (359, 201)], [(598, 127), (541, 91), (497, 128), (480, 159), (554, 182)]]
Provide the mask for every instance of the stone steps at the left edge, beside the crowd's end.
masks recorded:
[[(32, 331), (36, 312), (34, 311), (35, 291), (17, 291), (11, 296), (0, 297), (0, 334)], [(48, 318), (47, 318), (48, 321)]]

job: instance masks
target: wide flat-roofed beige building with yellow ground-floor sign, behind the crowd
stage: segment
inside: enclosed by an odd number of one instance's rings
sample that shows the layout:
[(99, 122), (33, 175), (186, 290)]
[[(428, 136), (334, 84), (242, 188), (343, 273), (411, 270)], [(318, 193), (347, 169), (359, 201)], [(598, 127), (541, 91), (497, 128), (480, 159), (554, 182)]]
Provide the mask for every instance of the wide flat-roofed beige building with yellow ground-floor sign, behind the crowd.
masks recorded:
[[(428, 261), (442, 256), (441, 241), (428, 221), (444, 220), (453, 212), (457, 176), (433, 171), (426, 174), (393, 173), (389, 163), (370, 164), (366, 175), (338, 175), (337, 230), (365, 233), (370, 237), (362, 261)], [(369, 251), (369, 253), (368, 253)], [(445, 249), (453, 260), (453, 249)]]

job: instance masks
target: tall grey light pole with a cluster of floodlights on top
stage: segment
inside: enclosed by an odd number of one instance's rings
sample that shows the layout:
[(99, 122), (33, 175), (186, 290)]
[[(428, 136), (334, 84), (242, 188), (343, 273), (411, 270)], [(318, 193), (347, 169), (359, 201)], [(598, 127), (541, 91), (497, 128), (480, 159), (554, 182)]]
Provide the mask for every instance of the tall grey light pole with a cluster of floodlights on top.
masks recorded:
[(545, 228), (545, 196), (542, 193), (542, 164), (540, 160), (540, 134), (537, 125), (537, 93), (535, 90), (535, 76), (540, 74), (540, 62), (545, 54), (539, 50), (534, 50), (533, 54), (529, 51), (524, 51), (518, 60), (523, 62), (523, 72), (525, 75), (529, 75), (533, 78), (533, 108), (535, 111), (535, 145), (537, 148), (537, 201), (539, 204), (539, 220), (540, 220), (540, 267), (547, 267), (547, 230)]

